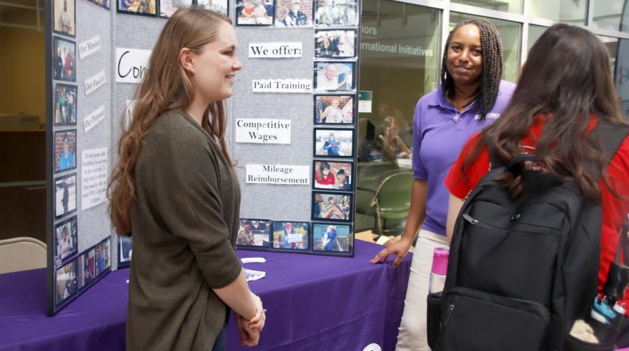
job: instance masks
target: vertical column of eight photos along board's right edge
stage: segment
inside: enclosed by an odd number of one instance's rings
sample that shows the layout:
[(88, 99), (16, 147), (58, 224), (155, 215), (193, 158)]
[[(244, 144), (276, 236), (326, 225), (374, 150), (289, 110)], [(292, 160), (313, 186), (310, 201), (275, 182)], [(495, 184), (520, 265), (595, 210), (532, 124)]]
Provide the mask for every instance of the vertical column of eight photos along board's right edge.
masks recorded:
[(314, 3), (312, 251), (353, 256), (360, 8)]

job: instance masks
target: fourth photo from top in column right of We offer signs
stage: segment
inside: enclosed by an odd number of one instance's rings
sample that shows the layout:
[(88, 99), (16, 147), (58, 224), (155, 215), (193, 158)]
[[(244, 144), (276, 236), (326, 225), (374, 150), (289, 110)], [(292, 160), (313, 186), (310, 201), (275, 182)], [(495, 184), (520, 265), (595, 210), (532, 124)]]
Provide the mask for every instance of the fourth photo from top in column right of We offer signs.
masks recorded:
[(315, 95), (315, 124), (354, 124), (354, 96)]

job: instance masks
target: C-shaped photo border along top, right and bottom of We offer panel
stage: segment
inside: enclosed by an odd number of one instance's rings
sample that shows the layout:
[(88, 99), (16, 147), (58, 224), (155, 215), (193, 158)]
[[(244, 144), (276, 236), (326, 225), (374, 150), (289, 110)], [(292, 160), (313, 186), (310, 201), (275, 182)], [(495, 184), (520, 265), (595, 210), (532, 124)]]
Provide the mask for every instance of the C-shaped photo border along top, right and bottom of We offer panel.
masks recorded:
[[(239, 249), (353, 256), (360, 6), (356, 0), (237, 0), (236, 26), (313, 27), (310, 220), (241, 219)], [(316, 231), (315, 231), (316, 229)]]

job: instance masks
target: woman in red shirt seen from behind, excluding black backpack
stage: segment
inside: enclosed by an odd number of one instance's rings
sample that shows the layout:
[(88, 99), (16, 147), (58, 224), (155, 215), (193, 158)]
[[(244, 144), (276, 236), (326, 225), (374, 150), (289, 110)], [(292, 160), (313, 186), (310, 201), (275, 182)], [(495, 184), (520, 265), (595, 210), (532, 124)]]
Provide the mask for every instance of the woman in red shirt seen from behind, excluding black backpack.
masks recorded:
[[(599, 124), (624, 128), (624, 133), (629, 127), (611, 72), (605, 45), (586, 29), (555, 24), (540, 36), (502, 117), (470, 138), (445, 180), (450, 192), (449, 238), (462, 199), (489, 172), (486, 141), (492, 144), (492, 159), (503, 164), (522, 153), (534, 153), (541, 162), (527, 165), (529, 169), (573, 182), (584, 199), (601, 205), (598, 291), (602, 291), (629, 213), (629, 137), (607, 165), (600, 138), (589, 137)], [(505, 172), (502, 181), (512, 196), (526, 193), (521, 174)]]

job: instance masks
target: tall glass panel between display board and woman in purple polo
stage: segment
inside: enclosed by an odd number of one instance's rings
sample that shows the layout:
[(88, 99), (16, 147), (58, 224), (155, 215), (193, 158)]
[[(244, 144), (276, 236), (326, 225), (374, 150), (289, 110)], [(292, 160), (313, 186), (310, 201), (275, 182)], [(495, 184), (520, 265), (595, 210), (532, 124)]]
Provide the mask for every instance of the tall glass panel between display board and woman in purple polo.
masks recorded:
[[(391, 0), (363, 1), (359, 89), (373, 95), (371, 112), (359, 113), (356, 231), (400, 234), (403, 230), (412, 182), (414, 108), (421, 96), (437, 87), (440, 29), (438, 9)], [(392, 117), (394, 124), (384, 126), (386, 117)], [(384, 142), (389, 136), (399, 137), (396, 148)], [(390, 187), (398, 173), (404, 178), (396, 182), (403, 188), (401, 195), (400, 189)], [(378, 210), (372, 206), (374, 199), (382, 204), (389, 201), (401, 212), (391, 216)]]

